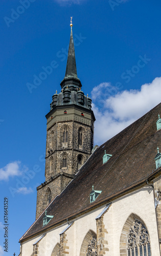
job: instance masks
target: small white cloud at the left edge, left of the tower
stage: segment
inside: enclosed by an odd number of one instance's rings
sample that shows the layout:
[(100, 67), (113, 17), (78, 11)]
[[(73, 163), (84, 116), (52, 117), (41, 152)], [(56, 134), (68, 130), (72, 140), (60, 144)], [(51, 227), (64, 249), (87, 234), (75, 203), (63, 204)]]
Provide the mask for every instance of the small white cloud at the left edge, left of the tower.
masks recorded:
[(14, 161), (8, 163), (5, 167), (0, 168), (0, 180), (8, 180), (10, 177), (20, 176), (22, 171), (20, 170), (20, 161)]

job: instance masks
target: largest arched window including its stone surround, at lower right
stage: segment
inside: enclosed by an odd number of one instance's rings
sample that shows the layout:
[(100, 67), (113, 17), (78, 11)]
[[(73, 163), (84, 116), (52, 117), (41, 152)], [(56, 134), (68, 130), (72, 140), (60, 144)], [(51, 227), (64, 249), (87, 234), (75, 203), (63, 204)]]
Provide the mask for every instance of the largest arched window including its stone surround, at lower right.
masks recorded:
[(144, 222), (136, 214), (126, 220), (120, 237), (120, 255), (151, 256), (150, 238)]

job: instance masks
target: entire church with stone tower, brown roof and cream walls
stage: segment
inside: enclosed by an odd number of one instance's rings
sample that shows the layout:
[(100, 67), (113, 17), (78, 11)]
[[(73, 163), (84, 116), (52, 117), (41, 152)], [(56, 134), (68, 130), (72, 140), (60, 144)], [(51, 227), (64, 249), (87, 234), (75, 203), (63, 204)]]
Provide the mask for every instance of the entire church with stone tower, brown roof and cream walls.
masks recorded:
[(94, 146), (92, 100), (77, 77), (70, 26), (61, 92), (46, 115), (45, 181), (19, 256), (159, 256), (161, 103)]

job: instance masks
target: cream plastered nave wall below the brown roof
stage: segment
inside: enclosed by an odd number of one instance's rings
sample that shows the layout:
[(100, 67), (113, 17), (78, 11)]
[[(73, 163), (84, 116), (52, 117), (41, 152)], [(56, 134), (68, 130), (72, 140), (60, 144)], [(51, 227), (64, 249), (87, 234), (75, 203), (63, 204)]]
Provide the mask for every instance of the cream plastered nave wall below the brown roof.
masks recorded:
[[(101, 216), (96, 221), (97, 216), (101, 214), (105, 206), (106, 204), (91, 209), (89, 212), (70, 220), (74, 223), (68, 229), (66, 229), (68, 227), (66, 220), (65, 223), (60, 223), (59, 226), (56, 225), (52, 229), (46, 230), (46, 236), (39, 242), (39, 255), (55, 256), (52, 252), (55, 251), (57, 244), (60, 244), (60, 233), (65, 229), (66, 236), (62, 237), (61, 246), (63, 246), (62, 251), (69, 252), (66, 253), (67, 255), (80, 256), (82, 253), (83, 256), (86, 256), (89, 240), (94, 234), (97, 234), (97, 255), (127, 255), (127, 235), (135, 218), (142, 220), (148, 230), (151, 255), (160, 255), (152, 187), (145, 185), (115, 199), (108, 211), (104, 212), (103, 218)], [(35, 235), (35, 237), (23, 241), (21, 256), (31, 256), (33, 244), (43, 234), (44, 231), (38, 236)]]

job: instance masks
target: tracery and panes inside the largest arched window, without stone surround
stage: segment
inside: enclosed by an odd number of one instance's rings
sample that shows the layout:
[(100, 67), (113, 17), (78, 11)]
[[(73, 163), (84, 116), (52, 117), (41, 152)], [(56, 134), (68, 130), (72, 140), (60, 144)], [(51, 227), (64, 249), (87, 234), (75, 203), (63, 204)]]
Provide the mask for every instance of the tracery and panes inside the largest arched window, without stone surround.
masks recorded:
[(151, 256), (149, 234), (144, 224), (133, 221), (127, 238), (128, 256)]

